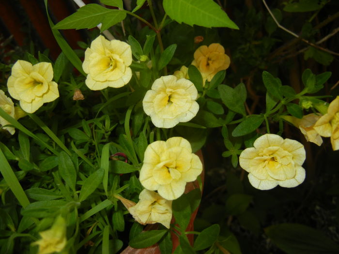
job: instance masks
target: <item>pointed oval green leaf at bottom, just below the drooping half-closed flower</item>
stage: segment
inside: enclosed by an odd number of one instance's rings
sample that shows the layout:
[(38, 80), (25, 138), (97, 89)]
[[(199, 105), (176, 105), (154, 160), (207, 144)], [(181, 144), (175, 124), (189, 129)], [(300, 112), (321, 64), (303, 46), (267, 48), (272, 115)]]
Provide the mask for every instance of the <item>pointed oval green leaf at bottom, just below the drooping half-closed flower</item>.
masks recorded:
[(129, 241), (132, 248), (142, 249), (157, 243), (165, 234), (167, 230), (152, 230), (145, 231), (137, 235)]

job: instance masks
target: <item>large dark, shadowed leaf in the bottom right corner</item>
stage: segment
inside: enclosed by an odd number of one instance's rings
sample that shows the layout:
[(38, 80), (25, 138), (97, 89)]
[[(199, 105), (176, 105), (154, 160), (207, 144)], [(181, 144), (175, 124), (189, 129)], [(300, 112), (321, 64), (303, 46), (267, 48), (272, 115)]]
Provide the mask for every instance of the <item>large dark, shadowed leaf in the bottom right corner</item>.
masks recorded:
[(284, 223), (265, 228), (266, 235), (288, 254), (339, 253), (339, 245), (314, 228)]

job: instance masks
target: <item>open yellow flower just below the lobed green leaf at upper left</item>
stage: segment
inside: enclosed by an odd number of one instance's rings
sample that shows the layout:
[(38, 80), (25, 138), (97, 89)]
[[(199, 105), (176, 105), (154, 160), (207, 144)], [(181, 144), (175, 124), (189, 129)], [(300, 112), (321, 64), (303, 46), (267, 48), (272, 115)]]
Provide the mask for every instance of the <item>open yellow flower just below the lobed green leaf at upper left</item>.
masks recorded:
[(131, 46), (119, 40), (108, 41), (99, 35), (85, 51), (82, 68), (87, 73), (86, 85), (91, 90), (119, 88), (132, 77)]

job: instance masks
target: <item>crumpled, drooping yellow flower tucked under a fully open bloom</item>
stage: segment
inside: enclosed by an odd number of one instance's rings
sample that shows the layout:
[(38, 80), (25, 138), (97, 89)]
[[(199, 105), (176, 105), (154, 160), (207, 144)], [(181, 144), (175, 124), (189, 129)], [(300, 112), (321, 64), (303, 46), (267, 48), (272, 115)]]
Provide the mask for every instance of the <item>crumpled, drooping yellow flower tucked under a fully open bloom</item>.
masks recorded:
[(140, 224), (161, 223), (170, 228), (172, 219), (172, 201), (159, 194), (143, 189), (139, 194), (139, 202), (128, 209), (133, 218)]

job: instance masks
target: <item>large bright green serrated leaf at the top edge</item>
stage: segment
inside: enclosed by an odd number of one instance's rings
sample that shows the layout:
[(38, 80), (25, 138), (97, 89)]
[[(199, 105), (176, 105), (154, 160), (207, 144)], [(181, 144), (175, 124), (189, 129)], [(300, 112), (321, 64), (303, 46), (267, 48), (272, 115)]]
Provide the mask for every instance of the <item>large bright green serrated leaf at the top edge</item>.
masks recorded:
[(239, 29), (213, 0), (164, 0), (163, 6), (166, 14), (179, 23)]

